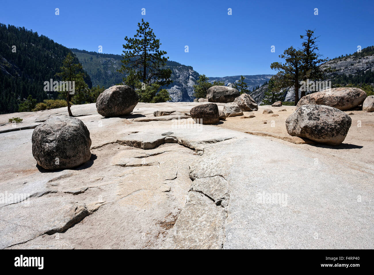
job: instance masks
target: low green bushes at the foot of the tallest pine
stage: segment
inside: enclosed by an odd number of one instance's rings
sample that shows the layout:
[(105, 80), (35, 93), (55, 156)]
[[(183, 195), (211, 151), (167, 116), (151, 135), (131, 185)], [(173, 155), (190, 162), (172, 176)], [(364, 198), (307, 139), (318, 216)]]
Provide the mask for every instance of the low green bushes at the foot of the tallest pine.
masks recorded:
[(142, 82), (135, 83), (135, 92), (139, 96), (139, 102), (160, 103), (171, 100), (168, 90), (161, 89), (158, 83), (147, 85)]

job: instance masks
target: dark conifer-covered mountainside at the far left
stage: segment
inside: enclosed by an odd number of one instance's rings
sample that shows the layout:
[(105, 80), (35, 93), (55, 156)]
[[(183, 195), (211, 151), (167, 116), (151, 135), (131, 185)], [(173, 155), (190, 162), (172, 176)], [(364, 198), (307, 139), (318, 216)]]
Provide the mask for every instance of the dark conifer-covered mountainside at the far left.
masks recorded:
[[(56, 99), (58, 92), (45, 92), (44, 82), (59, 80), (55, 74), (69, 52), (33, 30), (0, 24), (0, 114), (18, 111), (28, 95), (37, 102)], [(75, 62), (79, 63), (76, 57)], [(84, 78), (91, 88), (87, 73)]]

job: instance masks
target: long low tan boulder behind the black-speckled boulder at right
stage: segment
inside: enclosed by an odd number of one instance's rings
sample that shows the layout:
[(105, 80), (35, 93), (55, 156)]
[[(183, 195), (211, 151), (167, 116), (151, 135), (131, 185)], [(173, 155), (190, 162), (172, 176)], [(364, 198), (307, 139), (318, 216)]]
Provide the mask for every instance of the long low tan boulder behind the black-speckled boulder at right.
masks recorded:
[(345, 111), (361, 105), (366, 93), (359, 88), (332, 88), (302, 97), (296, 108), (303, 105), (326, 105)]

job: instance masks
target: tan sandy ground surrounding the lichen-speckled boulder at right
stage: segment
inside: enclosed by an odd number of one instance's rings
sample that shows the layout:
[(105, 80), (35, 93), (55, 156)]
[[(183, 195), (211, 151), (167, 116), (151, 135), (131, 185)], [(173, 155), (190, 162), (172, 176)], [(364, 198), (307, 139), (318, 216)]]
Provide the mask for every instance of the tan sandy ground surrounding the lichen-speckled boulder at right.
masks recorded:
[[(263, 114), (264, 109), (270, 109), (273, 113)], [(280, 111), (282, 109), (286, 109), (286, 111)], [(243, 112), (244, 116), (254, 114), (255, 117), (227, 117), (226, 121), (221, 121), (217, 126), (241, 132), (251, 132), (282, 143), (295, 143), (295, 146), (299, 148), (322, 153), (331, 156), (331, 158), (339, 158), (347, 164), (355, 164), (363, 169), (374, 170), (374, 113), (344, 111), (346, 114), (353, 113), (350, 114), (352, 125), (347, 137), (339, 146), (328, 146), (316, 144), (307, 139), (291, 137), (287, 133), (285, 121), (294, 111), (295, 106), (259, 106), (258, 111)], [(272, 116), (273, 114), (279, 116)]]

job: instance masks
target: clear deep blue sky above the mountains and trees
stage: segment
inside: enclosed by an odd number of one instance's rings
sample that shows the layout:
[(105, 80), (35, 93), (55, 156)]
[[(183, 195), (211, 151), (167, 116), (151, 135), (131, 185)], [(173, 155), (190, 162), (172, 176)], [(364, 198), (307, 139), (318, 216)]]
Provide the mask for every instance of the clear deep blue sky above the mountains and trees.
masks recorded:
[(374, 45), (373, 0), (33, 0), (1, 1), (0, 9), (1, 23), (32, 29), (68, 48), (98, 51), (101, 45), (110, 54), (122, 53), (124, 37), (136, 33), (142, 18), (150, 22), (170, 60), (210, 77), (276, 73), (270, 64), (281, 61), (278, 55), (289, 46), (300, 47), (306, 29), (321, 36), (324, 57)]

